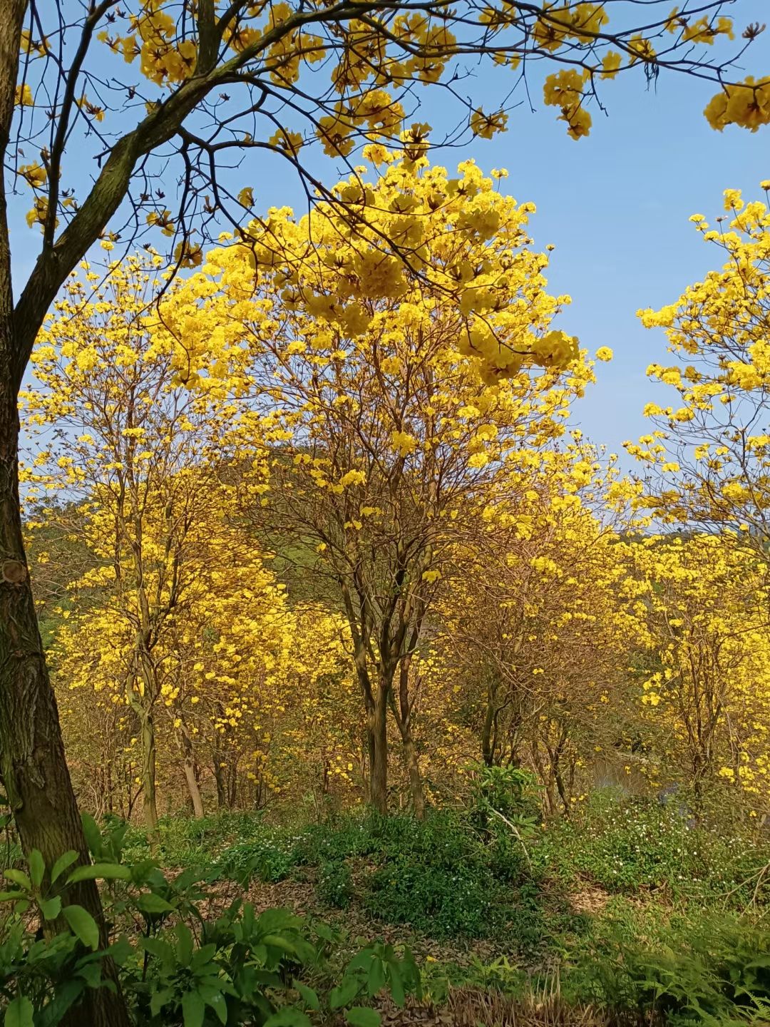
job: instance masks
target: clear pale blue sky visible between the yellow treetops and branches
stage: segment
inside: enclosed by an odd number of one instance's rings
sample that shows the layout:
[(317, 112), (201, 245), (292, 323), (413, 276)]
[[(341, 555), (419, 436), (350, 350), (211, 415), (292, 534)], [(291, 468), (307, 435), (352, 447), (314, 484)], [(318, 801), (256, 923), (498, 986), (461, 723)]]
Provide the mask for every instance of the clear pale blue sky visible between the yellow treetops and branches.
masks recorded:
[[(760, 0), (737, 0), (729, 12), (743, 28), (762, 22), (763, 10), (767, 17)], [(770, 29), (750, 47), (746, 72), (770, 72)], [(497, 74), (480, 74), (464, 91), (483, 103), (488, 99), (485, 106), (494, 109), (501, 92)], [(485, 170), (506, 167), (503, 188), (536, 203), (535, 243), (556, 248), (549, 288), (573, 297), (560, 327), (591, 352), (610, 346), (615, 353), (612, 364), (598, 365), (598, 384), (574, 419), (593, 441), (618, 451), (625, 439), (646, 429), (645, 403), (660, 398), (645, 369), (665, 362), (662, 333), (645, 331), (636, 311), (672, 302), (713, 266), (717, 252), (688, 218), (700, 213), (713, 221), (723, 213), (726, 188), (761, 196), (759, 182), (770, 178), (770, 126), (756, 134), (735, 127), (715, 132), (701, 113), (714, 85), (684, 75), (661, 75), (657, 88), (648, 89), (640, 68), (602, 85), (609, 113), (592, 110), (588, 139), (569, 139), (556, 110), (543, 107), (535, 87), (534, 114), (522, 106), (511, 112), (507, 132), (439, 159), (451, 164), (472, 156)], [(429, 88), (423, 97), (416, 119), (440, 127), (446, 99)], [(285, 166), (261, 164), (251, 155), (247, 160), (238, 179), (253, 186), (258, 210), (296, 204), (302, 211), (303, 193)], [(314, 163), (326, 182), (334, 181), (333, 161)], [(11, 197), (16, 283), (26, 277), (37, 242), (24, 225), (28, 206), (29, 194)]]

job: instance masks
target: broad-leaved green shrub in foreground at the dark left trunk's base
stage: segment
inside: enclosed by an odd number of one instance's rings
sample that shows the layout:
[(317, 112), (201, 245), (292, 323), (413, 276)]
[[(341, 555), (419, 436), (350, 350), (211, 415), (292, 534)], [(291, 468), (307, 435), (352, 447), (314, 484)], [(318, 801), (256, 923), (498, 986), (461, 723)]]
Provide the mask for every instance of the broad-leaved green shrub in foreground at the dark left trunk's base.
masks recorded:
[[(104, 883), (108, 922), (115, 936), (125, 931), (108, 952), (137, 1027), (309, 1025), (306, 1011), (317, 1011), (324, 1022), (339, 1013), (348, 1024), (376, 1027), (380, 1016), (369, 1003), (380, 993), (399, 1006), (407, 995), (421, 994), (408, 949), (368, 945), (330, 981), (326, 957), (337, 938), (324, 924), (311, 927), (284, 909), (258, 914), (240, 900), (217, 915), (216, 896), (194, 871), (172, 877), (152, 860), (121, 862), (126, 825), (113, 823), (102, 835), (86, 816), (83, 827), (93, 865), (75, 867), (73, 851), (46, 868), (36, 850), (27, 872), (5, 873), (0, 1009), (6, 1027), (55, 1027), (66, 1017), (79, 1022), (84, 993), (104, 986), (97, 923), (66, 902), (70, 886), (86, 879)], [(38, 938), (37, 919), (51, 931), (59, 921), (68, 926)], [(319, 980), (328, 993), (316, 990)]]

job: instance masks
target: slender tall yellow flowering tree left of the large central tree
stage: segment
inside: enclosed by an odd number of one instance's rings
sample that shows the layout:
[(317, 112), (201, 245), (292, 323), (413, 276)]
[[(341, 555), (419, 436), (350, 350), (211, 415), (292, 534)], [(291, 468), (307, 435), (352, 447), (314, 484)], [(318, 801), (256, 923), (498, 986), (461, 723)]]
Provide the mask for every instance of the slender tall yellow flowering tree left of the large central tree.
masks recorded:
[(156, 709), (176, 687), (165, 639), (203, 587), (216, 593), (202, 570), (236, 554), (246, 565), (256, 559), (239, 554), (227, 526), (232, 412), (174, 385), (174, 352), (153, 333), (159, 263), (131, 259), (99, 287), (87, 268), (72, 277), (33, 354), (35, 385), (22, 396), (39, 440), (25, 474), (32, 495), (59, 490), (92, 555), (72, 587), (94, 596), (95, 655), (104, 652), (105, 673), (137, 719), (151, 828)]

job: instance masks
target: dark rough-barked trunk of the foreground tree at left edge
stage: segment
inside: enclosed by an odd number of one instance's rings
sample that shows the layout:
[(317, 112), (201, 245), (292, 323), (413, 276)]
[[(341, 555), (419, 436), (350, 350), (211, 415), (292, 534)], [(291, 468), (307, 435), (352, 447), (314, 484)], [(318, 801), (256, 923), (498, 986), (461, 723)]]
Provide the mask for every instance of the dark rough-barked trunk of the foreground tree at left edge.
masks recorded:
[[(4, 14), (5, 16), (5, 14)], [(0, 29), (0, 44), (2, 43)], [(0, 200), (2, 202), (2, 200)], [(88, 863), (75, 793), (65, 759), (59, 711), (38, 631), (18, 501), (18, 414), (13, 385), (13, 329), (5, 211), (0, 211), (0, 768), (26, 855), (39, 849), (46, 867), (71, 849)], [(84, 907), (107, 945), (95, 882), (81, 881), (65, 901)], [(64, 923), (57, 924), (60, 929)], [(103, 961), (115, 985), (89, 989), (63, 1021), (88, 1027), (127, 1027), (115, 965)]]

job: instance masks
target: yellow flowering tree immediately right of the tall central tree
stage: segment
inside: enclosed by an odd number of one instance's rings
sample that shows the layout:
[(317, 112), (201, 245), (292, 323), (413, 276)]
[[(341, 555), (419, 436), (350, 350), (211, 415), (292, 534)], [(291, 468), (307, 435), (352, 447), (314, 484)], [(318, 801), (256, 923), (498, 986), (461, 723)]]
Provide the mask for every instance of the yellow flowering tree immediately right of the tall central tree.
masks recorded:
[(624, 569), (596, 517), (612, 472), (575, 431), (561, 450), (525, 451), (509, 474), (456, 549), (432, 644), (485, 763), (530, 767), (548, 808), (569, 814), (577, 769), (615, 740), (622, 692)]

